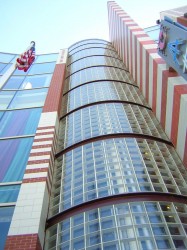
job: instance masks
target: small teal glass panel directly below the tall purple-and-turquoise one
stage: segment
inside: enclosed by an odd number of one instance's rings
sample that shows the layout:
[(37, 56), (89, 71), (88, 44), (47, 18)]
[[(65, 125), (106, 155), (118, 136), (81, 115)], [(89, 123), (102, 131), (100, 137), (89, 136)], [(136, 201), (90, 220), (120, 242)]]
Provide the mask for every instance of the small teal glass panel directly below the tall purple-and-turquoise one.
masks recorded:
[(0, 202), (15, 202), (20, 190), (20, 185), (0, 186)]

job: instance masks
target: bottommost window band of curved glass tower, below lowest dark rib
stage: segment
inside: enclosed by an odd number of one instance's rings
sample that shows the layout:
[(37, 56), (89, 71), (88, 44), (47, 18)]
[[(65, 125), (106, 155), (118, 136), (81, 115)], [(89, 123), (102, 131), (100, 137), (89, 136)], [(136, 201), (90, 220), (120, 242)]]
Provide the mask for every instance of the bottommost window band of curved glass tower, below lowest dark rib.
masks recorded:
[(187, 206), (131, 202), (89, 210), (47, 231), (45, 249), (186, 249)]

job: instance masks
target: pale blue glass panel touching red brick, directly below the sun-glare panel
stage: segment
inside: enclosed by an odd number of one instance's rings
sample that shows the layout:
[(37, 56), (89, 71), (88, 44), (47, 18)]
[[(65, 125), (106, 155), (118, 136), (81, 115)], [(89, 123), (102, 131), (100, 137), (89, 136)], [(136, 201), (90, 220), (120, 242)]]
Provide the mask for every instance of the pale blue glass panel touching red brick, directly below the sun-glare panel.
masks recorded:
[(18, 91), (8, 108), (43, 106), (48, 89)]

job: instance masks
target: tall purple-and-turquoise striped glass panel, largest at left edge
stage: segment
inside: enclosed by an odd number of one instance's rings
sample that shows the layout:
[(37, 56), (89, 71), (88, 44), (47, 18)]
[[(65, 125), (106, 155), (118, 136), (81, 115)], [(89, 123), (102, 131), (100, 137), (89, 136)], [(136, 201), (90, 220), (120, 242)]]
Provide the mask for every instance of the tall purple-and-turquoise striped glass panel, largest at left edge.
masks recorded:
[(0, 140), (0, 182), (22, 180), (32, 143), (33, 137)]

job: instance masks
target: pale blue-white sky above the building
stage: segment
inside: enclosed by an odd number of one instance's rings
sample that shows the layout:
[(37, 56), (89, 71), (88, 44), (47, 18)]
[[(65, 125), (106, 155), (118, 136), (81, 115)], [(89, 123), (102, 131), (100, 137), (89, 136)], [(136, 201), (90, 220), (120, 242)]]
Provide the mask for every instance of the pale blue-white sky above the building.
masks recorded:
[[(141, 27), (187, 0), (116, 0)], [(0, 0), (0, 52), (22, 53), (31, 41), (36, 54), (59, 52), (88, 38), (109, 40), (107, 0)]]

